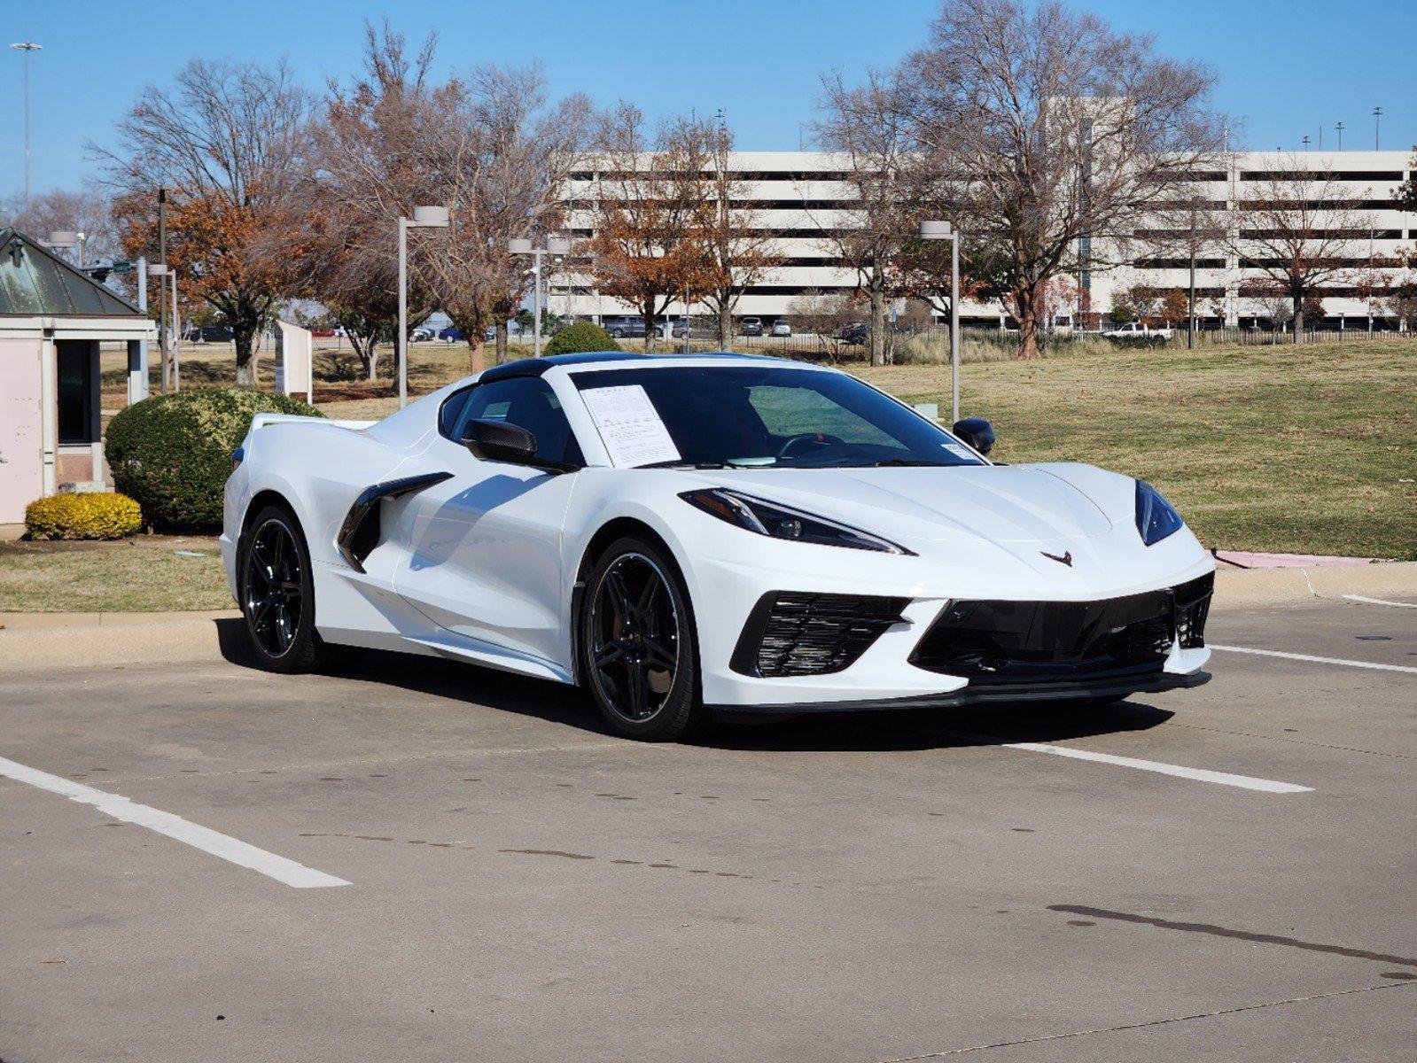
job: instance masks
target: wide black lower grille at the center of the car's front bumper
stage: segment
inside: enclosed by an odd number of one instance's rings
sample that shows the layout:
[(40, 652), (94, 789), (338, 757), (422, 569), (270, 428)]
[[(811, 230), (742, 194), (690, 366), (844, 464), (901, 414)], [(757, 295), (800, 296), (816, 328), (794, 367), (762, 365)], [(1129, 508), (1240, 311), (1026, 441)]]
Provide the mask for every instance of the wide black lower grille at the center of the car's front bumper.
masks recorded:
[(956, 601), (915, 646), (917, 668), (973, 683), (1078, 680), (1161, 668), (1204, 645), (1214, 575), (1094, 602)]

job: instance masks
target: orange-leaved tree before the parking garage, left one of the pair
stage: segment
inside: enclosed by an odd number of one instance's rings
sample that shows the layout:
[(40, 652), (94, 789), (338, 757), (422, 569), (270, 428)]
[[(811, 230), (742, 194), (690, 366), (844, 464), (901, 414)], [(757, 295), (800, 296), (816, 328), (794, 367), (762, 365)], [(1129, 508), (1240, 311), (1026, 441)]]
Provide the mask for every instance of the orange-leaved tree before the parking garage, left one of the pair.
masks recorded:
[(595, 234), (582, 254), (601, 292), (639, 312), (653, 350), (659, 315), (721, 281), (708, 248), (718, 210), (704, 180), (710, 140), (701, 123), (680, 118), (650, 143), (645, 116), (621, 102), (601, 128), (598, 157)]

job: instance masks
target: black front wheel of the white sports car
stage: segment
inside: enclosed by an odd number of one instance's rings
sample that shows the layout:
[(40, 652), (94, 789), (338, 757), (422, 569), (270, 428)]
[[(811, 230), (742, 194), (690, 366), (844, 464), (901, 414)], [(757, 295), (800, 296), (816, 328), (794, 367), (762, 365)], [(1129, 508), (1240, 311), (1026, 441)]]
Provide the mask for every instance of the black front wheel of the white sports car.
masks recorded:
[(580, 646), (581, 676), (621, 734), (674, 741), (708, 721), (689, 592), (653, 543), (626, 537), (601, 554), (581, 600)]

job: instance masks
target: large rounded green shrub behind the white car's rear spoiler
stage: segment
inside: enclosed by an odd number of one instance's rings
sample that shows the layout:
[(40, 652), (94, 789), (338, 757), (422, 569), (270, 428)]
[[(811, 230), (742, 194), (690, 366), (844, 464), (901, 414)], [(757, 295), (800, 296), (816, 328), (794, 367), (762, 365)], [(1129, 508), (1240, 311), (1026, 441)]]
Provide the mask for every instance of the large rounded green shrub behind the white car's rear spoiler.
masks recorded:
[(262, 391), (205, 388), (145, 398), (108, 424), (103, 452), (113, 483), (156, 529), (220, 529), (231, 452), (259, 412), (323, 417), (299, 398)]

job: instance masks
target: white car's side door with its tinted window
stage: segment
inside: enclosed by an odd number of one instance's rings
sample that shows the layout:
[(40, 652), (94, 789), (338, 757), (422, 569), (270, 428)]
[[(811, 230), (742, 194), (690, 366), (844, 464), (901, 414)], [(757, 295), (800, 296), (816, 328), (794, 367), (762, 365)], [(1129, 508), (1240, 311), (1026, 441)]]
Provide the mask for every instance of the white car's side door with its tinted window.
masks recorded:
[(451, 429), (424, 455), (453, 476), (400, 509), (397, 539), (407, 553), (394, 587), (456, 635), (570, 666), (571, 574), (561, 526), (577, 476), (475, 458), (458, 442), (475, 420), (526, 428), (537, 438), (537, 461), (582, 463), (544, 380), (473, 386)]

